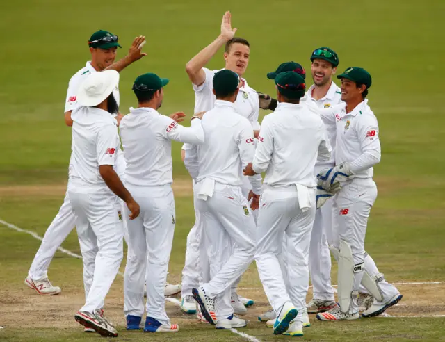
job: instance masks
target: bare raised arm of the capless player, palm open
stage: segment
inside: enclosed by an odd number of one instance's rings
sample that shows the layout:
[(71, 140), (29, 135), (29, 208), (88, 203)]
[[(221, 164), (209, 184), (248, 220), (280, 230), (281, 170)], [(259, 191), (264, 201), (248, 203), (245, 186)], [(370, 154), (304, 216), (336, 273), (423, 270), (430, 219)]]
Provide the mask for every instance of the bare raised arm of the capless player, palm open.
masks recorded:
[(193, 57), (186, 64), (186, 72), (188, 78), (196, 86), (201, 86), (206, 81), (206, 74), (203, 67), (209, 63), (209, 60), (218, 52), (218, 50), (224, 46), (226, 42), (234, 38), (237, 29), (232, 29), (232, 15), (230, 12), (226, 12), (223, 15), (223, 22), (221, 23), (221, 34), (218, 35), (216, 40), (213, 40), (211, 44), (204, 47), (195, 57)]

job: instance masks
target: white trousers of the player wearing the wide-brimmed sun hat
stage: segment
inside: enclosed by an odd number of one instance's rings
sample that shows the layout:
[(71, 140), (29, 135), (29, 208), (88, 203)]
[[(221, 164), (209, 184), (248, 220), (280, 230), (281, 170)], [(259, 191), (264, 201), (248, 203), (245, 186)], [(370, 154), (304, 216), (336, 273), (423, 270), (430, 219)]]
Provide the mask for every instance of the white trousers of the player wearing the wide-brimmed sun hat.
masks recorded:
[(123, 257), (123, 213), (119, 197), (106, 186), (79, 189), (71, 186), (68, 196), (76, 216), (83, 259), (86, 302), (81, 311), (92, 313), (104, 306), (118, 274)]

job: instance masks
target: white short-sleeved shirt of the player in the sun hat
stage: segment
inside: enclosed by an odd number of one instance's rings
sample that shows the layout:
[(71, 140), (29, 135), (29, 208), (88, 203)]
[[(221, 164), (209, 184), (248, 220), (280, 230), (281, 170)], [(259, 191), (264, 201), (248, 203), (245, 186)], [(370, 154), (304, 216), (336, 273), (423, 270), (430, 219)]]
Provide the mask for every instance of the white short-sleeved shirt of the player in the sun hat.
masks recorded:
[(120, 149), (116, 120), (107, 111), (86, 106), (78, 106), (71, 117), (72, 153), (68, 188), (81, 192), (108, 188), (99, 173), (99, 166), (115, 165)]

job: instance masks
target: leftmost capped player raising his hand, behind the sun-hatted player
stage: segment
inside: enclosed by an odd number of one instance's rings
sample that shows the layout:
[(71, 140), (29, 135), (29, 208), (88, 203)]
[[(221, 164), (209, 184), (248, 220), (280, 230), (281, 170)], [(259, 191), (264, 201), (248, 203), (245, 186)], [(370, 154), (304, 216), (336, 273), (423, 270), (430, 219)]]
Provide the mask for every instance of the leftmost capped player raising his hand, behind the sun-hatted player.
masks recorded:
[[(88, 40), (91, 61), (87, 62), (85, 67), (72, 76), (68, 86), (65, 102), (65, 123), (67, 126), (72, 126), (71, 113), (79, 106), (77, 90), (82, 81), (94, 72), (102, 71), (106, 68), (113, 68), (114, 70), (121, 71), (124, 67), (127, 67), (127, 65), (139, 60), (145, 56), (145, 54), (138, 49), (140, 44), (144, 41), (145, 38), (143, 37), (136, 38), (129, 50), (129, 54), (122, 58), (118, 63), (114, 63), (116, 49), (120, 47), (118, 37), (103, 30), (97, 31), (91, 35), (90, 40)], [(120, 97), (117, 85), (113, 90), (113, 96), (119, 105)], [(120, 116), (118, 116), (117, 119), (120, 120)], [(116, 171), (120, 177), (123, 177), (125, 169), (123, 154), (120, 154), (119, 151), (117, 154), (118, 163), (116, 165)], [(54, 218), (44, 234), (42, 244), (40, 245), (38, 252), (35, 254), (33, 263), (29, 269), (28, 277), (25, 279), (25, 284), (30, 288), (33, 288), (40, 295), (56, 295), (61, 291), (60, 287), (51, 285), (47, 271), (56, 250), (60, 247), (63, 241), (65, 241), (65, 238), (70, 234), (72, 229), (74, 229), (75, 220), (70, 199), (66, 194), (56, 218)]]

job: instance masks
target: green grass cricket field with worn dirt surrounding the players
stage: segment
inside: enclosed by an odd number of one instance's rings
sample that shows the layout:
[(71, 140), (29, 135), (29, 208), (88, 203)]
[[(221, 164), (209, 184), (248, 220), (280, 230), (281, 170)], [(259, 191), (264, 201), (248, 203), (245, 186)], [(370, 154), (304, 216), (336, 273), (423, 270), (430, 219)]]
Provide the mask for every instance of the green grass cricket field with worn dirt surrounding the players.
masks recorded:
[[(194, 97), (186, 62), (219, 33), (225, 10), (232, 11), (237, 35), (251, 43), (245, 75), (250, 86), (273, 92), (266, 73), (287, 60), (302, 63), (319, 46), (339, 54), (339, 71), (361, 66), (373, 76), (369, 104), (380, 124), (382, 162), (375, 168), (378, 200), (371, 211), (366, 251), (390, 282), (401, 284), (399, 318), (371, 318), (313, 325), (308, 341), (444, 340), (445, 318), (445, 110), (442, 80), (445, 47), (443, 0), (375, 1), (134, 1), (28, 0), (2, 3), (0, 29), (0, 219), (43, 236), (63, 202), (70, 157), (70, 128), (63, 108), (67, 82), (89, 60), (87, 41), (97, 29), (120, 37), (126, 54), (136, 35), (145, 35), (148, 56), (122, 72), (121, 111), (135, 105), (133, 79), (156, 72), (170, 79), (162, 113), (191, 115)], [(223, 51), (210, 67), (223, 67)], [(263, 114), (266, 114), (264, 112)], [(186, 236), (194, 213), (190, 179), (174, 145), (177, 229), (170, 282), (180, 282)], [(185, 190), (184, 190), (185, 189)], [(73, 315), (83, 304), (82, 266), (58, 252), (49, 269), (59, 296), (44, 298), (23, 284), (40, 241), (0, 224), (0, 341), (84, 341)], [(73, 232), (63, 247), (80, 254)], [(122, 265), (122, 270), (123, 270)], [(335, 268), (335, 267), (334, 267)], [(257, 301), (239, 332), (216, 332), (168, 304), (181, 326), (169, 336), (124, 330), (122, 277), (108, 296), (106, 314), (124, 341), (278, 341), (256, 316), (268, 309), (252, 266), (240, 293)], [(336, 276), (333, 275), (333, 279)], [(335, 282), (335, 280), (334, 280)], [(243, 289), (244, 288), (244, 289)], [(407, 316), (425, 316), (407, 318)], [(254, 339), (252, 339), (252, 336)], [(256, 340), (255, 340), (256, 339)], [(102, 340), (102, 339), (101, 339)]]

